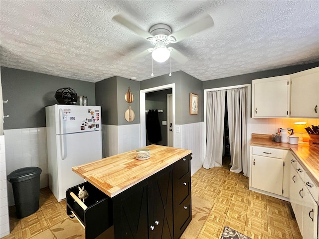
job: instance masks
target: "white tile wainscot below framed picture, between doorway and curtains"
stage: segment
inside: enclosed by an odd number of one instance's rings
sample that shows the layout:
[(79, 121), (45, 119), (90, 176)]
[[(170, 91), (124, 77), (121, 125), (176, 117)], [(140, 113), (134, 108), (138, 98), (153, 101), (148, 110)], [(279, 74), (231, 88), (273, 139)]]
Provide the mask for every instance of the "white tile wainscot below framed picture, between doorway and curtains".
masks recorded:
[(175, 147), (189, 149), (193, 153), (191, 163), (191, 175), (193, 175), (202, 166), (203, 155), (203, 125), (204, 122), (177, 124), (179, 132), (176, 131)]

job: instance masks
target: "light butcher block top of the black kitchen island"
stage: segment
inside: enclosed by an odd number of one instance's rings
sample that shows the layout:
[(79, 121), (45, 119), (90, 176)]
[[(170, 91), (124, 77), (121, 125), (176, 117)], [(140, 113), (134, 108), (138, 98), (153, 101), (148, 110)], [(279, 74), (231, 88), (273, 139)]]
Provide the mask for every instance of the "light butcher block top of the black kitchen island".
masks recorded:
[(144, 148), (151, 150), (147, 160), (137, 160), (136, 150), (132, 150), (72, 170), (112, 198), (191, 153), (186, 149), (154, 144)]

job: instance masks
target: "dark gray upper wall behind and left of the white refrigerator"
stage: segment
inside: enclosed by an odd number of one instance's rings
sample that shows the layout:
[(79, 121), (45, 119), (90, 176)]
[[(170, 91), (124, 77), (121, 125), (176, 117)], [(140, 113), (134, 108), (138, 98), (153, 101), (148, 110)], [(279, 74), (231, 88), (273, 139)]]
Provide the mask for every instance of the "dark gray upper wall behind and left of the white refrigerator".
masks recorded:
[(4, 129), (45, 127), (45, 106), (58, 104), (55, 92), (70, 87), (95, 105), (94, 83), (1, 67)]

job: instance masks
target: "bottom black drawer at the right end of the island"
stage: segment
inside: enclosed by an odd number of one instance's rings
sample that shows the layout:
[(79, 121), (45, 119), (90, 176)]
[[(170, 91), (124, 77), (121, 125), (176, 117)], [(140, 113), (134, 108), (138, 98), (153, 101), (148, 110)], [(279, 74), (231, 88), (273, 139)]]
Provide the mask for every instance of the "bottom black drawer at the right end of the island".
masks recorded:
[(176, 219), (174, 219), (175, 238), (179, 238), (191, 221), (191, 197), (186, 198), (177, 207), (175, 217), (176, 217)]

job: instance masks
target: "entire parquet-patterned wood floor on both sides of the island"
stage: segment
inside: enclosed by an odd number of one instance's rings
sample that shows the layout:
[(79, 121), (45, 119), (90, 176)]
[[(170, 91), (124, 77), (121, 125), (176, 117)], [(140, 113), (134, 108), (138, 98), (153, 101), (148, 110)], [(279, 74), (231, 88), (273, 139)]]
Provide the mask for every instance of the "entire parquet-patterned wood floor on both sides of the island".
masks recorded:
[[(227, 166), (201, 168), (191, 180), (192, 195), (213, 202), (197, 239), (220, 239), (225, 226), (252, 239), (302, 239), (290, 203), (250, 191), (248, 178)], [(75, 220), (62, 231), (63, 223), (70, 221), (66, 203), (58, 203), (48, 188), (40, 190), (39, 205), (36, 213), (20, 220), (9, 207), (11, 233), (3, 239), (85, 239)]]

